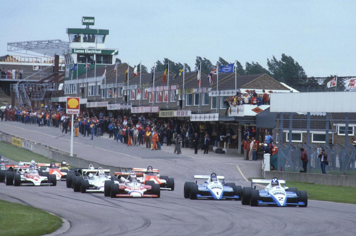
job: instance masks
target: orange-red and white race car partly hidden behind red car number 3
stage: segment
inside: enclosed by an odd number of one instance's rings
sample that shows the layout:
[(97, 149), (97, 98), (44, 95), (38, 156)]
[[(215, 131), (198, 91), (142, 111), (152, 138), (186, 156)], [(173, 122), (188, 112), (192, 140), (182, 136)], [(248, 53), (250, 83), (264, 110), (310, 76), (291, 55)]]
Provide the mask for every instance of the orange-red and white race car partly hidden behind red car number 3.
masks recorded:
[[(174, 190), (174, 179), (168, 178), (167, 175), (159, 175), (158, 169), (153, 169), (152, 166), (148, 166), (147, 169), (133, 168), (132, 170), (135, 171), (137, 179), (143, 184), (146, 184), (146, 181), (153, 181), (155, 184), (159, 184), (161, 190)], [(127, 177), (130, 173), (115, 172), (114, 174)]]

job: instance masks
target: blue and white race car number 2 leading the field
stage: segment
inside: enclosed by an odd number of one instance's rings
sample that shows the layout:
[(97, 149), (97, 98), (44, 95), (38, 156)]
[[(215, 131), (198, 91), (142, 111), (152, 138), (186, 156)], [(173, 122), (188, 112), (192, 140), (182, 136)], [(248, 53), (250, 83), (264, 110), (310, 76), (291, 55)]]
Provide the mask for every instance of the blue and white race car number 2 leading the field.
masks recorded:
[[(253, 184), (267, 184), (265, 190), (252, 188)], [(281, 186), (283, 184), (283, 187)], [(285, 180), (273, 179), (252, 179), (251, 187), (242, 189), (242, 205), (259, 206), (308, 206), (307, 191), (297, 188), (286, 187)]]

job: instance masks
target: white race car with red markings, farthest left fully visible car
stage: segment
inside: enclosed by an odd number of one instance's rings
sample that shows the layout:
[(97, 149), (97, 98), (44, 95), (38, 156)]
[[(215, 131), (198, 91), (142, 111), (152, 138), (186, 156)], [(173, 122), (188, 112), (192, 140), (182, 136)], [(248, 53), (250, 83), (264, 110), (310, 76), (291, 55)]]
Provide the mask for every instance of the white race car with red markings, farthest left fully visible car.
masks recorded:
[(23, 167), (13, 167), (14, 171), (6, 171), (5, 184), (6, 185), (57, 185), (56, 175), (50, 175), (48, 172), (42, 172), (41, 175), (34, 165), (30, 165), (28, 169), (23, 169)]

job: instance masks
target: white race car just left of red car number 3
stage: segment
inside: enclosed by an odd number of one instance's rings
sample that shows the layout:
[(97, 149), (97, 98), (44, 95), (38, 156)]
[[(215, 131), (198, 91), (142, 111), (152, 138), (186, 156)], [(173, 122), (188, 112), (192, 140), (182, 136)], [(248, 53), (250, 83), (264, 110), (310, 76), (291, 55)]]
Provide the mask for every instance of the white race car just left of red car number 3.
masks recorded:
[[(73, 173), (68, 174), (67, 188), (73, 186), (74, 192), (82, 193), (104, 193), (105, 181), (111, 180), (109, 169), (99, 167), (95, 169), (93, 165), (89, 165), (88, 169), (78, 169), (78, 173), (82, 176), (76, 176)], [(119, 181), (116, 181), (119, 183)]]

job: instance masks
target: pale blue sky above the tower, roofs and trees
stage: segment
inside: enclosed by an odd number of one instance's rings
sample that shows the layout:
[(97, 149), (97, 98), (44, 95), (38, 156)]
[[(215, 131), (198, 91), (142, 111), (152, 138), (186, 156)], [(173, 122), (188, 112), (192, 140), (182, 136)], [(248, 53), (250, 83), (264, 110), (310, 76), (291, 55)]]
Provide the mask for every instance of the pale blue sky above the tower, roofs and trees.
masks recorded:
[(0, 55), (7, 42), (61, 39), (94, 16), (122, 62), (150, 68), (169, 58), (194, 68), (197, 56), (245, 67), (292, 56), (307, 75), (356, 76), (356, 1), (1, 1)]

